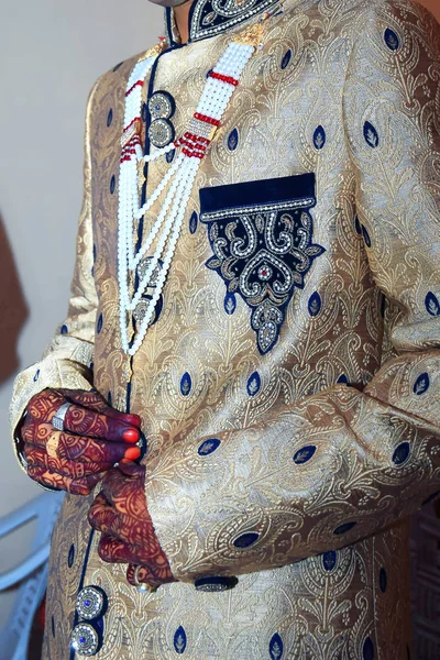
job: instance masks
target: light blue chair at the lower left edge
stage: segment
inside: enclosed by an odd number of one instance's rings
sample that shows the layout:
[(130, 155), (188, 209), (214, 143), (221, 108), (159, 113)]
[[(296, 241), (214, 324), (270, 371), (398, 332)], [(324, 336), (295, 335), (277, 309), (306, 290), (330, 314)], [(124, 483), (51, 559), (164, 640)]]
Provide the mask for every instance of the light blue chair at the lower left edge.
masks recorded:
[(0, 630), (0, 660), (26, 659), (32, 622), (46, 591), (51, 536), (63, 497), (64, 493), (44, 493), (0, 518), (0, 539), (26, 522), (36, 521), (28, 558), (0, 573), (0, 592), (20, 585), (11, 616)]

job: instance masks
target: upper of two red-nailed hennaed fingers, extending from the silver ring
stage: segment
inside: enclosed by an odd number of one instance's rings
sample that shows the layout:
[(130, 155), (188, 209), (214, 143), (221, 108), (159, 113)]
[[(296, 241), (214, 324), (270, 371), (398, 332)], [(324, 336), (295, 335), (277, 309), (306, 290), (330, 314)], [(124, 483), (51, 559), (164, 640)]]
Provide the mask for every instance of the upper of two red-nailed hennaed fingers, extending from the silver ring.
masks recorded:
[(130, 427), (119, 419), (95, 413), (76, 404), (72, 404), (66, 413), (64, 430), (78, 436), (109, 441), (124, 440), (125, 442), (135, 443), (141, 439), (138, 428)]

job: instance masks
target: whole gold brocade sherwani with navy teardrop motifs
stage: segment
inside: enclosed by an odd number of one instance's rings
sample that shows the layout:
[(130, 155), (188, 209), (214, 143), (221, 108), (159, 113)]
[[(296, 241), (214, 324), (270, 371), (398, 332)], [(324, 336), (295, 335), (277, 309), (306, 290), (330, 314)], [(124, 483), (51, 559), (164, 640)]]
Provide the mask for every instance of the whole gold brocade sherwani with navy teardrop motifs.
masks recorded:
[[(141, 415), (148, 508), (179, 582), (138, 593), (98, 557), (91, 498), (67, 496), (46, 660), (76, 657), (87, 585), (108, 597), (99, 660), (410, 658), (407, 517), (440, 490), (439, 26), (409, 0), (195, 0), (189, 43), (168, 13), (144, 87), (173, 96), (177, 136), (267, 10), (129, 384), (117, 217), (138, 57), (91, 94), (69, 315), (18, 377), (12, 424), (48, 386), (95, 386)], [(150, 164), (147, 195), (172, 157)], [(239, 582), (204, 593), (204, 576)]]

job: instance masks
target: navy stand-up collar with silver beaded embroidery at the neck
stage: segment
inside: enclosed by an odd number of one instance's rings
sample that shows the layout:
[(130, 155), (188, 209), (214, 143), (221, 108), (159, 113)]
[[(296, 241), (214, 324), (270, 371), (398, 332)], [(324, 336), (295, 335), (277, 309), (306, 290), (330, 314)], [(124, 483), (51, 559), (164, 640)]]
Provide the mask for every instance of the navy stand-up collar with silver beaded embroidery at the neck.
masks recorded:
[[(189, 11), (188, 43), (217, 36), (258, 13), (279, 3), (279, 0), (194, 0)], [(165, 10), (166, 38), (172, 46), (176, 41), (173, 10)]]

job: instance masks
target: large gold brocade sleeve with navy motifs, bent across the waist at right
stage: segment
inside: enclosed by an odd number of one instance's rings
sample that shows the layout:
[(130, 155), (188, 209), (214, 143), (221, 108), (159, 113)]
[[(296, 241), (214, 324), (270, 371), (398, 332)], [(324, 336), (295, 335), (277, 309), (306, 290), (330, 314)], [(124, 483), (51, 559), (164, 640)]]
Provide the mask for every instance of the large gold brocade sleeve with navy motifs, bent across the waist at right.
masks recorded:
[(337, 550), (440, 490), (439, 32), (418, 6), (382, 7), (353, 38), (343, 117), (371, 271), (400, 308), (395, 356), (363, 392), (152, 451), (146, 499), (178, 580)]

